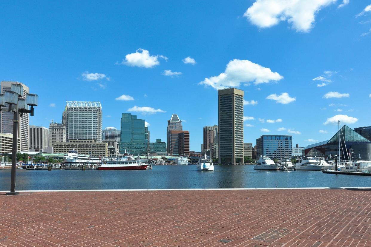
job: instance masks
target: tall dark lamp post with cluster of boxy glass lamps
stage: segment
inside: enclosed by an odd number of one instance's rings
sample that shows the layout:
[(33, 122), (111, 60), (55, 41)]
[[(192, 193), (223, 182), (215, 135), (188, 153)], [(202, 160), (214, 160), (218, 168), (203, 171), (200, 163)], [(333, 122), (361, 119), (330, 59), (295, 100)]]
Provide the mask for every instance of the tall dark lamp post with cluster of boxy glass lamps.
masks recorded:
[[(7, 196), (19, 194), (15, 191), (16, 188), (16, 160), (17, 160), (17, 139), (18, 139), (18, 123), (19, 116), (23, 113), (30, 113), (33, 116), (33, 107), (38, 106), (39, 96), (37, 94), (27, 94), (26, 99), (23, 97), (23, 86), (21, 84), (12, 84), (10, 91), (5, 91), (0, 94), (0, 109), (1, 111), (13, 112), (13, 148), (12, 148), (12, 175), (10, 179), (10, 192)], [(28, 109), (31, 106), (31, 109)], [(4, 108), (3, 108), (4, 107)]]

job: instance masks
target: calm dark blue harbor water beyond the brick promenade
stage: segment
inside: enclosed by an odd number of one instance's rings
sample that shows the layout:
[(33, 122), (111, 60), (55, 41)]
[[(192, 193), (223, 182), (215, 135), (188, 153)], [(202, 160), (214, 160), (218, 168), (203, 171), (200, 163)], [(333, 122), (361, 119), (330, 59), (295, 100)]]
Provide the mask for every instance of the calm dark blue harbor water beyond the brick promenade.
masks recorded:
[[(370, 177), (321, 171), (257, 171), (252, 165), (154, 166), (152, 170), (17, 170), (16, 190), (367, 187)], [(10, 190), (10, 170), (0, 170), (0, 190)]]

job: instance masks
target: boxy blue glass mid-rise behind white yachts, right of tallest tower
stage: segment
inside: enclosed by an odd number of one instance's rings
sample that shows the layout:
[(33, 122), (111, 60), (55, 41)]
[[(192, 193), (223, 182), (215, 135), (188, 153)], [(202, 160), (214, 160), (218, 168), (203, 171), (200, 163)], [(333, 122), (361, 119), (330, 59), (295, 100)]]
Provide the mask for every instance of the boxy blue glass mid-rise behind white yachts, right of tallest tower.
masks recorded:
[(256, 158), (269, 156), (282, 159), (292, 157), (292, 136), (263, 135), (256, 139)]

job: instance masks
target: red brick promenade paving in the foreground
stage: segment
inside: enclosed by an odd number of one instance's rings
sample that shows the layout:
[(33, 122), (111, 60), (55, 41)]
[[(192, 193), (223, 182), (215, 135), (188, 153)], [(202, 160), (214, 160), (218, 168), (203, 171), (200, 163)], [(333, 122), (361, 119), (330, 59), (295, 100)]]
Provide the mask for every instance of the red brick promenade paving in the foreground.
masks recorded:
[(0, 246), (371, 246), (371, 191), (23, 192)]

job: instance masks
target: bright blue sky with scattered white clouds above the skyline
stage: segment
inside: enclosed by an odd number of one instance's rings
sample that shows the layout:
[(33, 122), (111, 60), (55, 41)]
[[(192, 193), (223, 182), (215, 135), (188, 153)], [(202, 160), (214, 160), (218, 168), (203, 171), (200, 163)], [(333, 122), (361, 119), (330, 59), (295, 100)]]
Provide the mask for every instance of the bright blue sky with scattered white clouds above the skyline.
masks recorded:
[(0, 80), (39, 95), (30, 124), (61, 122), (66, 100), (101, 101), (104, 127), (130, 112), (155, 141), (176, 113), (196, 151), (218, 123), (216, 89), (235, 86), (249, 101), (245, 142), (292, 134), (306, 146), (331, 138), (338, 119), (371, 125), (370, 4), (3, 1)]

